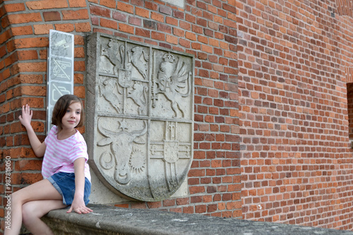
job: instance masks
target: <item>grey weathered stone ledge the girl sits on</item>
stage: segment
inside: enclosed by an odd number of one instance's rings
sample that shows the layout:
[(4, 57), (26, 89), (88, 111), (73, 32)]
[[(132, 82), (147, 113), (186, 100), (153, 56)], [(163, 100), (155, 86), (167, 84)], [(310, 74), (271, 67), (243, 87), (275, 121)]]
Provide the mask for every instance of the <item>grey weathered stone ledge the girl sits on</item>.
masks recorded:
[(270, 222), (254, 222), (160, 210), (126, 209), (107, 205), (89, 205), (93, 212), (78, 215), (67, 209), (52, 210), (42, 218), (54, 234), (353, 234), (352, 231), (302, 227)]

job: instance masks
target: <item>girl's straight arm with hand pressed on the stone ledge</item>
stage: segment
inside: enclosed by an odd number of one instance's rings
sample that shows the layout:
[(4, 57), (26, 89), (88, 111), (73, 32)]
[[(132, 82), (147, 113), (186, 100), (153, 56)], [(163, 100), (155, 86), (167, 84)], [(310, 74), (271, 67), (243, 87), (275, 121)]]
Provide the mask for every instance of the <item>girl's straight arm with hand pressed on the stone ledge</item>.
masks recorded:
[(92, 212), (92, 210), (86, 207), (83, 201), (84, 191), (85, 191), (85, 158), (77, 158), (73, 162), (75, 168), (75, 196), (73, 196), (73, 202), (68, 213), (72, 210), (78, 214), (86, 214)]

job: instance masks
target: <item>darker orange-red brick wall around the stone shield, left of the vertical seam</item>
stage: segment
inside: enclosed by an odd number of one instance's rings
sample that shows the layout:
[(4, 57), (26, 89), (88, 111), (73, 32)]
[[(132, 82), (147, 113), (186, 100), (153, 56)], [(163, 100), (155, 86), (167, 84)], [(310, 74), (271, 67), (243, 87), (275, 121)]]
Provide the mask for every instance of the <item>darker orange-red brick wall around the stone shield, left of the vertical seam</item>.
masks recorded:
[[(75, 34), (75, 89), (85, 98), (85, 36), (104, 32), (195, 55), (194, 160), (190, 196), (159, 203), (128, 203), (222, 217), (241, 217), (237, 25), (235, 1), (0, 1), (0, 171), (11, 156), (12, 190), (42, 179), (41, 161), (18, 122), (20, 107), (35, 110), (32, 125), (44, 140), (49, 30)], [(1, 197), (4, 184), (0, 184)], [(4, 203), (0, 216), (4, 217)], [(4, 220), (1, 219), (1, 229)]]

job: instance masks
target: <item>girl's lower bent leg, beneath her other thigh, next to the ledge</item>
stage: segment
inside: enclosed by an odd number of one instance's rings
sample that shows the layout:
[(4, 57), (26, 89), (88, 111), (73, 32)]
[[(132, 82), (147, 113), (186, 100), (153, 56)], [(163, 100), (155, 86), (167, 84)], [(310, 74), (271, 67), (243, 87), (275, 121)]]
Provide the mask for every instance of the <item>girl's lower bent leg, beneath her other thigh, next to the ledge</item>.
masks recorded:
[(40, 220), (50, 210), (65, 208), (62, 200), (29, 201), (22, 206), (22, 220), (32, 234), (53, 234), (52, 230)]

